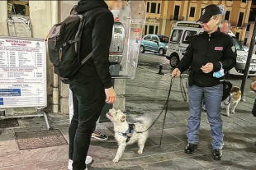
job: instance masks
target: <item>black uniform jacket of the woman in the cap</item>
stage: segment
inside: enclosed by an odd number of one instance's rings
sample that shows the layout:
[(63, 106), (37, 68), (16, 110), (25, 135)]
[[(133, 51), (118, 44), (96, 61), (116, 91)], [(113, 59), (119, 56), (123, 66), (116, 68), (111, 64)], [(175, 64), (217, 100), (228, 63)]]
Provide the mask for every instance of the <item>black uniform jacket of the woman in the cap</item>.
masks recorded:
[[(199, 87), (211, 87), (219, 85), (220, 80), (223, 79), (223, 77), (213, 76), (215, 71), (220, 71), (220, 62), (225, 71), (230, 71), (235, 67), (236, 56), (235, 46), (228, 34), (221, 33), (220, 29), (212, 34), (203, 32), (193, 37), (177, 68), (183, 72), (191, 67), (192, 84)], [(213, 63), (213, 71), (206, 74), (201, 71), (201, 67), (208, 62)]]

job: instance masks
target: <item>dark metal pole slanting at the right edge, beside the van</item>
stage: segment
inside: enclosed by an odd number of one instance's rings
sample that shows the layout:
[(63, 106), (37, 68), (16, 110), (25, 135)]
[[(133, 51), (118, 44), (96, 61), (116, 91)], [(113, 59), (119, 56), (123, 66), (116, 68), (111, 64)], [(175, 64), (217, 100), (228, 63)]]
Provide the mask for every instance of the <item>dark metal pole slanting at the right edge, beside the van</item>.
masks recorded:
[(251, 43), (249, 44), (249, 53), (248, 53), (248, 57), (247, 57), (247, 61), (246, 61), (246, 65), (245, 65), (245, 69), (244, 69), (244, 76), (243, 76), (243, 80), (242, 80), (242, 84), (241, 84), (241, 99), (242, 101), (244, 100), (244, 85), (245, 82), (247, 80), (248, 74), (249, 74), (249, 64), (251, 62), (252, 56), (253, 56), (253, 51), (254, 51), (254, 44), (255, 44), (255, 34), (256, 34), (256, 18), (255, 18), (255, 22), (254, 22), (254, 32), (253, 32), (253, 36), (251, 39)]

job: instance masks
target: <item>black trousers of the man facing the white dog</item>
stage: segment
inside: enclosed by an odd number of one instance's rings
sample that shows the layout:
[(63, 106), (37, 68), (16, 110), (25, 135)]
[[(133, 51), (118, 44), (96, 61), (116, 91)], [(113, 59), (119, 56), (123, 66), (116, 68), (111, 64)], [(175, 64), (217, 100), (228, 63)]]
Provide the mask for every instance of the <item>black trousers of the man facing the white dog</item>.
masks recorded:
[(82, 84), (71, 79), (69, 88), (73, 92), (73, 118), (69, 126), (69, 159), (73, 160), (73, 170), (84, 170), (92, 131), (101, 115), (106, 95), (101, 80)]

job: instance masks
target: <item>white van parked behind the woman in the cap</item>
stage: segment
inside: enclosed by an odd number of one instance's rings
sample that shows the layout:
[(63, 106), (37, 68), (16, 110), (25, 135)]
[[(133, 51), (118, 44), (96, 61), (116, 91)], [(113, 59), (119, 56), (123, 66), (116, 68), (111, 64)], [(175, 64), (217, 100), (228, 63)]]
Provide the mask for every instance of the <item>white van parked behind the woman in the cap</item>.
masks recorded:
[[(176, 67), (178, 62), (183, 57), (188, 44), (192, 37), (198, 33), (203, 32), (202, 26), (198, 22), (193, 21), (178, 21), (173, 27), (173, 30), (170, 34), (170, 39), (168, 43), (168, 48), (166, 52), (166, 58), (170, 60), (170, 66)], [(235, 44), (237, 50), (237, 59), (236, 65), (230, 70), (231, 75), (244, 75), (244, 68), (248, 56), (248, 52), (244, 51), (244, 48), (239, 43), (239, 40), (236, 39), (235, 34), (231, 31), (229, 33)], [(256, 76), (256, 55), (253, 54), (250, 67), (249, 67), (249, 76)]]

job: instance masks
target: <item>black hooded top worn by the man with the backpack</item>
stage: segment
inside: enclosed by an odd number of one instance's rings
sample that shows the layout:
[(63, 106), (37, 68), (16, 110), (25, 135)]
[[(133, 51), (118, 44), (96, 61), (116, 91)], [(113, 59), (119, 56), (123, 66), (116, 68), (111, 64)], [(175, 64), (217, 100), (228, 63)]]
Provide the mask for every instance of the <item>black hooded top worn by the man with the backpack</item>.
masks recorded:
[(81, 0), (74, 10), (78, 14), (89, 11), (83, 27), (80, 56), (83, 59), (92, 52), (92, 57), (83, 64), (74, 75), (74, 79), (80, 83), (100, 79), (105, 89), (108, 89), (112, 86), (108, 57), (114, 24), (113, 15), (103, 0)]

